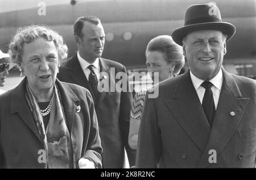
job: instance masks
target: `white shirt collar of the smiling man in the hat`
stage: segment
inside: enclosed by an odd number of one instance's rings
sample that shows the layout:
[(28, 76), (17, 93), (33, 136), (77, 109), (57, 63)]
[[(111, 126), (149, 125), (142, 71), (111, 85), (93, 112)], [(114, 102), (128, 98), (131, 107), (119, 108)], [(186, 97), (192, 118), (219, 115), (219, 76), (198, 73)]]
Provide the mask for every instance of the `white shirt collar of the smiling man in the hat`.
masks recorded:
[[(190, 73), (190, 77), (191, 77), (191, 81), (193, 83), (193, 86), (197, 90), (201, 86), (201, 83), (204, 82), (204, 80), (197, 78), (194, 74), (192, 74), (191, 71), (189, 71), (189, 73)], [(218, 74), (215, 77), (210, 79), (210, 82), (212, 82), (212, 84), (215, 87), (217, 87), (218, 90), (221, 90), (221, 86), (222, 86), (222, 82), (223, 82), (222, 69), (220, 69), (220, 71), (218, 72)]]

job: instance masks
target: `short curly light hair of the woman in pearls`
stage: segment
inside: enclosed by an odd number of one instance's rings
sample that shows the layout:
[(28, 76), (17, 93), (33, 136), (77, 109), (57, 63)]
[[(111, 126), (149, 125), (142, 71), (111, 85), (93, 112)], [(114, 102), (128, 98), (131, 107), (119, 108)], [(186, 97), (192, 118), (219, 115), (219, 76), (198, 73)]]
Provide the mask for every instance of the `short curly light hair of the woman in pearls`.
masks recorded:
[(9, 44), (9, 55), (11, 62), (22, 64), (23, 45), (24, 43), (31, 43), (38, 37), (43, 37), (48, 41), (53, 41), (56, 46), (59, 55), (59, 63), (68, 57), (68, 47), (64, 43), (63, 37), (56, 31), (42, 25), (32, 25), (27, 27), (20, 27), (16, 31), (13, 39)]

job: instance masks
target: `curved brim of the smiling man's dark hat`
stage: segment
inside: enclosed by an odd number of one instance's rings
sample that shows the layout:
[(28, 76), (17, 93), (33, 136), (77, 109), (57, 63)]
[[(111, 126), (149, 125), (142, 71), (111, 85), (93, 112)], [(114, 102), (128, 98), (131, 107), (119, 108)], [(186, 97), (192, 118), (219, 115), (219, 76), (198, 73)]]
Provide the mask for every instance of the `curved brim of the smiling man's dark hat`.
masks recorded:
[(217, 30), (224, 32), (228, 37), (226, 41), (231, 39), (233, 35), (236, 33), (236, 27), (233, 24), (226, 23), (226, 22), (209, 22), (209, 23), (198, 23), (198, 24), (191, 24), (187, 26), (183, 26), (177, 28), (174, 32), (172, 32), (172, 39), (175, 43), (179, 45), (182, 44), (183, 37), (187, 35), (189, 32), (193, 31), (203, 31), (203, 30)]

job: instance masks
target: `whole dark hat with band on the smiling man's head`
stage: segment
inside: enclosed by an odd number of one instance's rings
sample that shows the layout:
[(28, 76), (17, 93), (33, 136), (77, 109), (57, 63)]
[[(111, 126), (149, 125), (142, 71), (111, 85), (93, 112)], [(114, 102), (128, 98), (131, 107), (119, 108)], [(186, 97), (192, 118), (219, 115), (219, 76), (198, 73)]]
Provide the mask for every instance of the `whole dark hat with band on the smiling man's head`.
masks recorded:
[(185, 12), (184, 26), (172, 32), (175, 43), (182, 45), (185, 35), (193, 31), (217, 30), (227, 35), (228, 41), (236, 32), (233, 24), (222, 22), (220, 10), (213, 3), (189, 6)]

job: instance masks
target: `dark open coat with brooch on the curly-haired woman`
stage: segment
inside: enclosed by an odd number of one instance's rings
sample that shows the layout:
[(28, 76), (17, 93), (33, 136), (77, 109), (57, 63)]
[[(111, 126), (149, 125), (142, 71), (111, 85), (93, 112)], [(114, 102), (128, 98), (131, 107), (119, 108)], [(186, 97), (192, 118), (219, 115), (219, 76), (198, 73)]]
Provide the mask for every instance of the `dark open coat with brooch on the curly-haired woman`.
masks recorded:
[[(0, 168), (44, 168), (38, 161), (44, 145), (25, 99), (25, 79), (0, 96)], [(84, 87), (57, 79), (56, 83), (71, 136), (73, 167), (86, 157), (101, 168), (102, 148), (92, 96)]]

